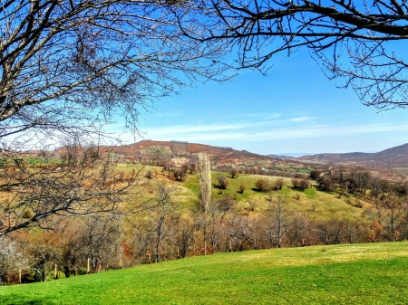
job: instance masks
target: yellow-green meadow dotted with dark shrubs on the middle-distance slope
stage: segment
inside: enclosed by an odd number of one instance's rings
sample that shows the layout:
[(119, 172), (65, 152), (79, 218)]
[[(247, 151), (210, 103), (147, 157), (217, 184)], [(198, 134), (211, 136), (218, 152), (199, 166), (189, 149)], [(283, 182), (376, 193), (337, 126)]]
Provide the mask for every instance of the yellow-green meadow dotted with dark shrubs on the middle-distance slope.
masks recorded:
[[(121, 165), (121, 168), (133, 169), (140, 168), (132, 165)], [(151, 170), (161, 174), (161, 167), (144, 167), (144, 171)], [(259, 176), (259, 175), (239, 175), (232, 179), (228, 173), (212, 172), (212, 184), (214, 198), (220, 198), (222, 195), (230, 195), (235, 198), (238, 210), (245, 211), (249, 205), (255, 206), (255, 212), (261, 212), (268, 208), (270, 204), (269, 196), (266, 193), (258, 192), (255, 182), (259, 178), (277, 179), (277, 176)], [(228, 189), (219, 190), (217, 188), (217, 176), (225, 175), (228, 177)], [(162, 176), (164, 177), (164, 176)], [(329, 219), (341, 220), (366, 220), (365, 212), (371, 205), (360, 199), (363, 208), (355, 207), (356, 199), (353, 195), (349, 198), (344, 196), (338, 198), (336, 192), (327, 193), (316, 190), (316, 187), (307, 188), (305, 191), (298, 191), (292, 188), (289, 178), (283, 178), (285, 186), (282, 190), (272, 192), (274, 197), (281, 196), (287, 202), (288, 208), (294, 212), (306, 214), (310, 220), (325, 221)], [(197, 175), (188, 175), (184, 182), (176, 182), (179, 191), (176, 193), (177, 203), (180, 210), (190, 211), (197, 205), (198, 198), (198, 178)], [(244, 184), (246, 189), (243, 194), (238, 192), (239, 185)]]

